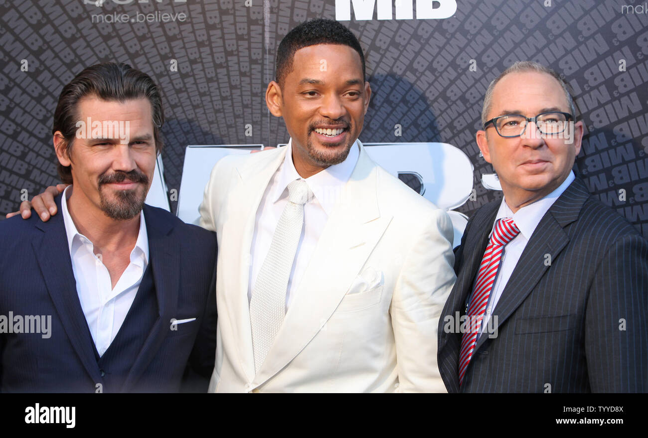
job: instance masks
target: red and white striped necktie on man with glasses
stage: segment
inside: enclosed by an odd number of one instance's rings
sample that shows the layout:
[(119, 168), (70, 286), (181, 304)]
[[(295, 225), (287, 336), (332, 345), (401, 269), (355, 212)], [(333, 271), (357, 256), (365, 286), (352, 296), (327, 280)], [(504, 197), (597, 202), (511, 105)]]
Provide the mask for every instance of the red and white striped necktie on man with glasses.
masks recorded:
[(466, 312), (469, 323), (465, 326), (467, 330), (461, 336), (461, 351), (459, 352), (459, 385), (463, 382), (463, 375), (466, 373), (472, 352), (477, 343), (477, 334), (481, 329), (486, 305), (491, 296), (492, 285), (495, 282), (497, 271), (500, 268), (502, 252), (507, 243), (511, 242), (520, 233), (512, 218), (498, 219), (495, 229), (492, 232), (484, 257), (481, 259), (480, 270), (477, 273), (477, 281), (470, 298), (470, 305)]

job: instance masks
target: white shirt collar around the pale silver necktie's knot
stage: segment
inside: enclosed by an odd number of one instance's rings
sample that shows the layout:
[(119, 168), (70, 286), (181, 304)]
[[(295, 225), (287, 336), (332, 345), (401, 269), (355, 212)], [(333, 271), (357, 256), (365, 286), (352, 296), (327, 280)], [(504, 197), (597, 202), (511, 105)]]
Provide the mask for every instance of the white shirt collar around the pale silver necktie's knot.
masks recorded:
[[(302, 179), (297, 173), (295, 164), (292, 161), (292, 139), (288, 141), (286, 148), (288, 148), (286, 158), (279, 169), (279, 182), (270, 195), (270, 202), (272, 203), (277, 202), (282, 196), (288, 196), (286, 194), (288, 184), (295, 181), (295, 179)], [(356, 167), (356, 163), (358, 163), (358, 157), (360, 157), (360, 145), (358, 144), (358, 140), (356, 140), (351, 146), (351, 150), (349, 150), (349, 156), (344, 161), (340, 164), (329, 166), (321, 170), (321, 172), (305, 179), (308, 187), (313, 192), (313, 195), (327, 216), (330, 216), (335, 203), (338, 201), (342, 187), (351, 178), (353, 169)]]

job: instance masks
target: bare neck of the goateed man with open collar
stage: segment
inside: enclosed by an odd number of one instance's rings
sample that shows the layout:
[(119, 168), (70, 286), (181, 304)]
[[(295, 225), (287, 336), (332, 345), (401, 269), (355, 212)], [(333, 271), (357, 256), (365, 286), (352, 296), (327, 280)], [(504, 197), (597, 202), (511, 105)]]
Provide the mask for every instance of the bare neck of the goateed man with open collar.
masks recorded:
[(95, 253), (102, 251), (113, 253), (120, 249), (122, 251), (128, 249), (130, 253), (137, 242), (140, 214), (128, 220), (109, 218), (82, 193), (77, 193), (75, 190), (67, 200), (67, 211), (78, 232), (93, 243)]

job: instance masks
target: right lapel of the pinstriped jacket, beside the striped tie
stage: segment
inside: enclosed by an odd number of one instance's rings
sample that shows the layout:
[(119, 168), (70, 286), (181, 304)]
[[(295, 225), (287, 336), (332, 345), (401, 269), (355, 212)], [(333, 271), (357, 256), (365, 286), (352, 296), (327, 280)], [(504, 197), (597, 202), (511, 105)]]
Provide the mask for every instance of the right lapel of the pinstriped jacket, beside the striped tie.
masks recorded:
[[(522, 304), (542, 275), (551, 269), (550, 263), (546, 263), (546, 255), (551, 257), (552, 264), (558, 259), (562, 249), (570, 241), (564, 227), (577, 220), (581, 207), (589, 196), (583, 181), (576, 178), (542, 216), (494, 308), (493, 314), (498, 316), (498, 327)], [(475, 351), (487, 339), (488, 336), (480, 336)]]

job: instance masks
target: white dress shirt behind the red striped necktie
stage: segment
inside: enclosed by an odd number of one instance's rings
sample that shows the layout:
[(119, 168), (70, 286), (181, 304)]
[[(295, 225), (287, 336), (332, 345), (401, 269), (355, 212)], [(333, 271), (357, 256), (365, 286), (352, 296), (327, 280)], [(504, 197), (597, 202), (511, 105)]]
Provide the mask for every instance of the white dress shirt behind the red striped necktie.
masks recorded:
[[(495, 216), (495, 221), (492, 224), (491, 235), (495, 229), (495, 222), (501, 218), (513, 218), (513, 222), (520, 229), (520, 233), (511, 240), (502, 251), (502, 260), (500, 260), (500, 268), (497, 273), (497, 278), (492, 286), (491, 295), (489, 297), (489, 303), (486, 306), (486, 312), (484, 314), (483, 323), (481, 325), (481, 333), (487, 328), (488, 320), (491, 318), (491, 315), (496, 315), (497, 312), (493, 312), (493, 309), (496, 309), (497, 302), (500, 301), (502, 292), (506, 287), (507, 282), (511, 278), (513, 270), (515, 270), (518, 260), (522, 255), (522, 251), (526, 248), (533, 231), (535, 231), (538, 223), (542, 219), (545, 213), (550, 209), (551, 205), (561, 196), (562, 192), (567, 189), (567, 187), (574, 180), (573, 171), (562, 181), (562, 184), (553, 192), (537, 200), (534, 203), (525, 205), (516, 213), (513, 213), (509, 208), (509, 205), (506, 203), (506, 198), (502, 198), (502, 203), (500, 204), (500, 209)], [(490, 235), (489, 235), (490, 236)], [(489, 237), (490, 238), (490, 237)]]

